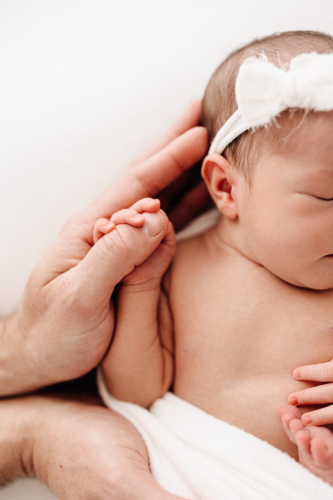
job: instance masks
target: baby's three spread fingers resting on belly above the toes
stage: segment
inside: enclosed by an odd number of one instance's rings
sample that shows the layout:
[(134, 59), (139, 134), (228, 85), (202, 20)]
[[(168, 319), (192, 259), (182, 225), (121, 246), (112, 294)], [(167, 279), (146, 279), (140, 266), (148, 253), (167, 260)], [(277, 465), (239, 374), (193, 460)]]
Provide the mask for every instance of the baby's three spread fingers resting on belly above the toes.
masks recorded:
[[(289, 404), (304, 406), (308, 404), (333, 403), (333, 359), (326, 363), (299, 366), (293, 372), (297, 380), (316, 380), (331, 382), (292, 392), (288, 396)], [(303, 413), (304, 425), (327, 425), (333, 423), (333, 405)]]

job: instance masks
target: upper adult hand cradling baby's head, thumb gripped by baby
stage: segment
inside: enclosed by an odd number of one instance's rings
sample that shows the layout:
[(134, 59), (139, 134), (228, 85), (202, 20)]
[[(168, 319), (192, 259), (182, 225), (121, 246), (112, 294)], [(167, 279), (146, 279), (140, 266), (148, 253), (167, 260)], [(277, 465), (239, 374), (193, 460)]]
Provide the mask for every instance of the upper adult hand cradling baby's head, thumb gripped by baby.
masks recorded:
[[(159, 245), (168, 221), (159, 211), (150, 225), (120, 224), (93, 245), (94, 224), (139, 198), (154, 197), (200, 160), (208, 144), (203, 127), (191, 128), (199, 113), (194, 102), (152, 150), (67, 221), (38, 262), (19, 310), (0, 325), (1, 396), (79, 377), (101, 360), (113, 331), (114, 286)], [(205, 200), (200, 192), (199, 207)], [(184, 220), (191, 196), (180, 205)]]

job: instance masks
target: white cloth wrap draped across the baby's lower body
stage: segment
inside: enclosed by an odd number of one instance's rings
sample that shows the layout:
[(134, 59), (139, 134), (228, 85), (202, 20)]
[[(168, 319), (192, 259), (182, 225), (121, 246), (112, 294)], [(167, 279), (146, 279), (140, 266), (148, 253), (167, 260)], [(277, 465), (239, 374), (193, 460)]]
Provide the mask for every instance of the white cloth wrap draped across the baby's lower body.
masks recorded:
[(112, 397), (105, 404), (142, 435), (150, 470), (171, 493), (191, 500), (328, 500), (333, 488), (287, 453), (223, 422), (171, 392), (148, 411)]

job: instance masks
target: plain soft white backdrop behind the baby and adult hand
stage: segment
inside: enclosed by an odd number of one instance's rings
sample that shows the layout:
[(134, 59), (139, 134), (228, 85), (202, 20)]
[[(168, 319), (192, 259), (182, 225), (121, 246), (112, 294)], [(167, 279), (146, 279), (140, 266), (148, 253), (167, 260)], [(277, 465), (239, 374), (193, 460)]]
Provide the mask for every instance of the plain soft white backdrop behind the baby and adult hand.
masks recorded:
[[(228, 52), (295, 29), (333, 33), (332, 0), (0, 0), (0, 315)], [(26, 484), (0, 499), (49, 497)]]

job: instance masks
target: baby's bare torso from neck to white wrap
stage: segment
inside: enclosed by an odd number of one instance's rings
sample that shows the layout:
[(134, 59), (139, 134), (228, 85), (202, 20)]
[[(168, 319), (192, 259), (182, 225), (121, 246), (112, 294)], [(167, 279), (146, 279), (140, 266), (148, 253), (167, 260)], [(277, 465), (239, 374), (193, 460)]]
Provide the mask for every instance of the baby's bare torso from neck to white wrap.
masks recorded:
[(181, 243), (174, 258), (173, 391), (297, 458), (276, 410), (315, 384), (294, 379), (295, 363), (333, 357), (333, 291), (277, 278), (223, 243), (222, 225)]

